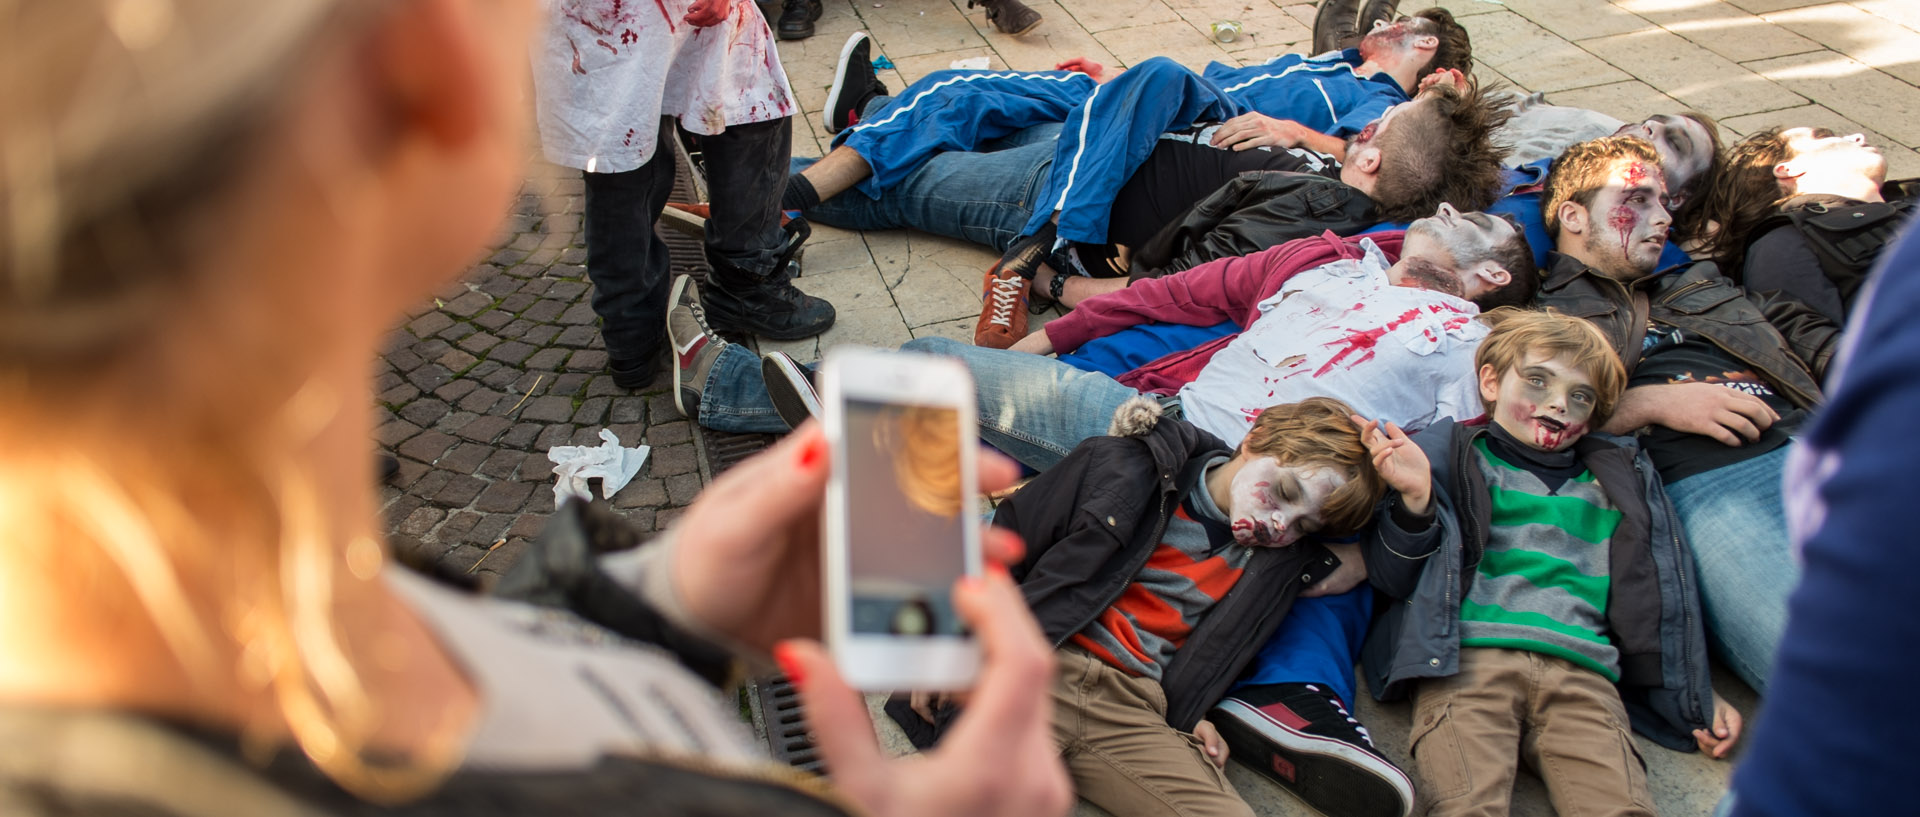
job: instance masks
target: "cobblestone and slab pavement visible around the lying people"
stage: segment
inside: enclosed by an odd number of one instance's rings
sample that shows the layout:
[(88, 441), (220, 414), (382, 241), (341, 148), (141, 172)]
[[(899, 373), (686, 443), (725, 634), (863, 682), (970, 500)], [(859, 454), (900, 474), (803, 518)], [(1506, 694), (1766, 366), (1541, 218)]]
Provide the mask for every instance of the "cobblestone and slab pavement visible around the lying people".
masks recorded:
[[(1029, 36), (995, 33), (960, 0), (826, 0), (818, 35), (781, 42), (781, 63), (804, 115), (793, 153), (822, 155), (820, 107), (833, 59), (852, 31), (876, 38), (906, 79), (954, 59), (1050, 69), (1089, 56), (1129, 65), (1154, 54), (1200, 69), (1256, 63), (1308, 50), (1311, 2), (1286, 0), (1027, 0), (1046, 21)], [(1404, 0), (1402, 12), (1432, 6)], [(1914, 0), (1448, 0), (1473, 33), (1476, 75), (1551, 102), (1620, 119), (1699, 109), (1728, 140), (1774, 125), (1860, 130), (1885, 150), (1893, 176), (1920, 176), (1920, 2)], [(778, 4), (776, 4), (778, 13)], [(1213, 42), (1208, 25), (1236, 19), (1246, 35)], [(680, 416), (666, 376), (624, 391), (588, 305), (580, 242), (580, 180), (534, 163), (524, 196), (488, 259), (394, 332), (378, 361), (378, 443), (396, 453), (386, 487), (396, 549), (445, 568), (497, 575), (553, 508), (551, 445), (653, 445), (639, 478), (612, 504), (645, 529), (668, 525), (710, 466), (703, 439)], [(970, 338), (979, 274), (993, 253), (918, 232), (858, 234), (816, 226), (799, 286), (828, 297), (839, 322), (818, 339), (762, 343), (801, 361), (837, 343), (897, 345), (916, 336)], [(737, 443), (737, 441), (733, 441)], [(733, 445), (739, 449), (739, 445)], [(488, 547), (505, 541), (488, 554)], [(1724, 675), (1724, 673), (1722, 673)], [(1743, 712), (1751, 690), (1722, 689)], [(1405, 761), (1404, 708), (1361, 704), (1392, 758)], [(1663, 813), (1707, 813), (1728, 763), (1642, 744)], [(1260, 813), (1309, 813), (1263, 779), (1233, 765), (1231, 779)], [(1089, 811), (1091, 813), (1091, 811)], [(1517, 815), (1551, 813), (1523, 775)]]

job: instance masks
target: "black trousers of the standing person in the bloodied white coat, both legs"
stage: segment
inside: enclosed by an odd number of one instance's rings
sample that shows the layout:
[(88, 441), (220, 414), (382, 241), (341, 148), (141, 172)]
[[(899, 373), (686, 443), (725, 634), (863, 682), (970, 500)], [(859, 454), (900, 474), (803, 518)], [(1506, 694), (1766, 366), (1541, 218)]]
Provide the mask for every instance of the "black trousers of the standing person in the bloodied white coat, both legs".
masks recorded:
[[(653, 222), (674, 192), (674, 138), (678, 123), (660, 119), (653, 161), (626, 173), (582, 173), (586, 180), (588, 278), (593, 280), (593, 313), (601, 316), (607, 355), (620, 362), (653, 361), (666, 336), (670, 284), (666, 244)], [(762, 278), (783, 276), (774, 268), (785, 247), (780, 228), (780, 194), (787, 182), (793, 119), (732, 125), (701, 136), (707, 155), (707, 251)]]

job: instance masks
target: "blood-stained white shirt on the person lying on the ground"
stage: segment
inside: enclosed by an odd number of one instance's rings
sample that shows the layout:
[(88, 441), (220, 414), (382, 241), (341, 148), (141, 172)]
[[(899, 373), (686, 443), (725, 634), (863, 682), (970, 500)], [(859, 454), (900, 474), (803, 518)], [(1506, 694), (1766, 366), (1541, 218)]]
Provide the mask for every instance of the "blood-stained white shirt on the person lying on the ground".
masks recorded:
[(1235, 445), (1261, 410), (1306, 397), (1334, 397), (1407, 433), (1480, 416), (1480, 309), (1388, 284), (1380, 247), (1361, 247), (1359, 261), (1302, 270), (1260, 301), (1260, 318), (1181, 389), (1185, 416)]

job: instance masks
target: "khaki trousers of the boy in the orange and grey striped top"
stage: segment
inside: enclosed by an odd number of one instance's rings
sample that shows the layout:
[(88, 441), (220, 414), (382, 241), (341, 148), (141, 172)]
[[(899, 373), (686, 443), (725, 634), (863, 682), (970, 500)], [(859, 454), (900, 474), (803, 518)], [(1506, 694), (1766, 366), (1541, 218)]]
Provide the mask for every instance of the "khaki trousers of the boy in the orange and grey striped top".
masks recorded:
[(1060, 758), (1075, 792), (1094, 805), (1116, 817), (1252, 817), (1200, 738), (1167, 725), (1160, 683), (1064, 646), (1052, 696)]

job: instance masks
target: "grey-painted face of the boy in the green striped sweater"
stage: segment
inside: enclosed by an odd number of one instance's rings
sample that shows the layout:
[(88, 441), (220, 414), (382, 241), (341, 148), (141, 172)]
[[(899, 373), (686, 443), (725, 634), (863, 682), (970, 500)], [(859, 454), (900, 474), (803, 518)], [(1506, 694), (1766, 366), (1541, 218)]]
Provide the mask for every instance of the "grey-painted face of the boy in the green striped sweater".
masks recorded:
[(1507, 372), (1480, 366), (1480, 397), (1494, 422), (1513, 439), (1540, 451), (1565, 451), (1588, 432), (1599, 389), (1574, 366), (1572, 355), (1528, 353)]

